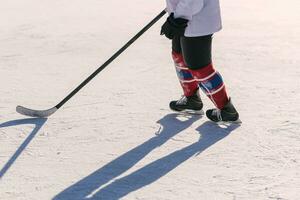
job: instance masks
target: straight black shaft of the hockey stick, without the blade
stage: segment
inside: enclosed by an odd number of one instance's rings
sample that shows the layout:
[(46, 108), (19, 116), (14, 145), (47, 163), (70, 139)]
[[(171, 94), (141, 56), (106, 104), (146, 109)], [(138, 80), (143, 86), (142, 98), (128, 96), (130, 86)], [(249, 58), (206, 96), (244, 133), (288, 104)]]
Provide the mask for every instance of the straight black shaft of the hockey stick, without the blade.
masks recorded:
[(166, 14), (163, 10), (159, 13), (151, 22), (149, 22), (140, 32), (138, 32), (132, 39), (130, 39), (122, 48), (120, 48), (115, 54), (113, 54), (104, 64), (102, 64), (94, 73), (86, 78), (80, 85), (78, 85), (68, 96), (66, 96), (55, 107), (59, 109), (67, 101), (69, 101), (77, 92), (79, 92), (86, 84), (88, 84), (97, 74), (99, 74), (105, 67), (107, 67), (112, 61), (114, 61), (119, 55), (121, 55), (131, 44), (133, 44), (139, 37), (141, 37), (149, 28), (151, 28), (160, 18)]

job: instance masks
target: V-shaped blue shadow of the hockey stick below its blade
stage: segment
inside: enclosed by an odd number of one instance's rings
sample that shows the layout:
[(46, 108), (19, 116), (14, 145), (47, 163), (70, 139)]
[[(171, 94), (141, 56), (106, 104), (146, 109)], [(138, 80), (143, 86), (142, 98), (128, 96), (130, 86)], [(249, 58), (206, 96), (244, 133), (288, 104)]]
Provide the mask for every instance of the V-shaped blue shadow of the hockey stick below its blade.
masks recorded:
[(14, 162), (18, 159), (18, 157), (22, 154), (22, 152), (26, 149), (28, 144), (32, 141), (32, 139), (36, 136), (42, 126), (45, 124), (47, 119), (44, 118), (29, 118), (29, 119), (20, 119), (8, 121), (0, 124), (0, 128), (9, 127), (9, 126), (18, 126), (24, 124), (34, 124), (35, 127), (32, 132), (28, 135), (28, 137), (24, 140), (21, 146), (17, 149), (17, 151), (12, 155), (12, 157), (7, 161), (7, 163), (0, 170), (0, 180), (5, 175), (5, 173), (9, 170), (9, 168), (14, 164)]

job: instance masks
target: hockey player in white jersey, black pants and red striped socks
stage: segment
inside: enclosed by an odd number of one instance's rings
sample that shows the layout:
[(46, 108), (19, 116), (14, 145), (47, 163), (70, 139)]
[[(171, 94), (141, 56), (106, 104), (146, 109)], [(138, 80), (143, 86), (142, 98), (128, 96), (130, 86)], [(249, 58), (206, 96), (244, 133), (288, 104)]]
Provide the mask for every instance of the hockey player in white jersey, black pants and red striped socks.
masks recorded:
[(172, 57), (184, 93), (181, 99), (170, 102), (170, 108), (202, 111), (200, 87), (216, 106), (206, 111), (210, 120), (239, 121), (211, 59), (212, 35), (222, 29), (219, 0), (167, 0), (167, 11), (169, 17), (161, 35), (172, 40)]

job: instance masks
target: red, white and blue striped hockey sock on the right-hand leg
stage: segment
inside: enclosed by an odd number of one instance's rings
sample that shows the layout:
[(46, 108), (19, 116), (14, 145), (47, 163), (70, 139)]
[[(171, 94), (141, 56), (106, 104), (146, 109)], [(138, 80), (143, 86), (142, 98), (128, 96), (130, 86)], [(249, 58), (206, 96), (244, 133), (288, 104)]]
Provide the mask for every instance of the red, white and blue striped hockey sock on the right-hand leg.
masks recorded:
[(195, 80), (199, 82), (200, 88), (210, 98), (218, 109), (224, 108), (229, 101), (225, 84), (219, 72), (213, 65), (207, 65), (204, 68), (191, 70)]

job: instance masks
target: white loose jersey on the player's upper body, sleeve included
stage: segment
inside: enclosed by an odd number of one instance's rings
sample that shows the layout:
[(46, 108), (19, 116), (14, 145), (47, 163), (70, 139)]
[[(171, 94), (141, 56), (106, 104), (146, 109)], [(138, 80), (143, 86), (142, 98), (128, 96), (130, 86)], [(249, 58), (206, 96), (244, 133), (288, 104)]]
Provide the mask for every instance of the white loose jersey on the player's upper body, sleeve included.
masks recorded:
[(166, 0), (167, 11), (188, 19), (186, 37), (213, 34), (222, 29), (219, 0)]

